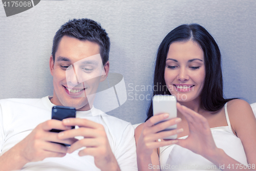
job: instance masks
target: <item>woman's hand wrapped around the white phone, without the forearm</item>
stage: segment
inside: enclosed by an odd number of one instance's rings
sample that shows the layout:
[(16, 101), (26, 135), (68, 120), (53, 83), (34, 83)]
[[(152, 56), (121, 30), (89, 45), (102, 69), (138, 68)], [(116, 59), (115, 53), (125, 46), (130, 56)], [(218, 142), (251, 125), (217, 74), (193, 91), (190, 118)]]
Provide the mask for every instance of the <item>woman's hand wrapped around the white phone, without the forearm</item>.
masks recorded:
[[(145, 156), (151, 156), (151, 154), (153, 153), (153, 149), (157, 149), (160, 146), (170, 145), (177, 142), (177, 140), (166, 140), (166, 141), (158, 142), (158, 139), (163, 139), (167, 136), (175, 135), (183, 131), (183, 129), (162, 131), (167, 127), (170, 127), (179, 123), (181, 121), (181, 118), (177, 118), (177, 117), (163, 121), (162, 123), (155, 125), (156, 123), (167, 118), (168, 116), (169, 114), (167, 113), (155, 115), (155, 116), (152, 116), (143, 124), (143, 128), (140, 133), (139, 139), (136, 139), (137, 154), (144, 154)], [(162, 132), (159, 132), (159, 131), (162, 131)]]

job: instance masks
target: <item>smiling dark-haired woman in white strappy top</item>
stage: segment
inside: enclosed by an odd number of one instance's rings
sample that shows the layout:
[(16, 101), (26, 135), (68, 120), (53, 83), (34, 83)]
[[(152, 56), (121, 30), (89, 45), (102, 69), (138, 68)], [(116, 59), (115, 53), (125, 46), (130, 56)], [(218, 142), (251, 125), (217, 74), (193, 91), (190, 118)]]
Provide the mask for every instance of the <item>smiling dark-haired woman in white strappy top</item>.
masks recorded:
[[(178, 117), (155, 125), (168, 114), (153, 116), (151, 104), (135, 130), (139, 170), (255, 169), (256, 119), (247, 102), (224, 99), (220, 50), (202, 26), (181, 25), (167, 34), (154, 85), (164, 87), (154, 95), (176, 96)], [(178, 139), (163, 140), (174, 134)]]

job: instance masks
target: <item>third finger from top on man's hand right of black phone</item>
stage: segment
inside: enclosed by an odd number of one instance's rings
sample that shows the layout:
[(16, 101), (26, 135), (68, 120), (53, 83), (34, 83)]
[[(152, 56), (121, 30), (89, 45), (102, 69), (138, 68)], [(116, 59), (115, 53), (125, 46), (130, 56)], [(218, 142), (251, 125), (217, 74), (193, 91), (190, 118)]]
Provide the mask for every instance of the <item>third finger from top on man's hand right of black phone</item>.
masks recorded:
[(100, 141), (96, 140), (95, 138), (84, 138), (73, 143), (68, 149), (68, 153), (73, 153), (74, 151), (82, 147), (91, 148), (91, 147), (97, 147), (99, 145), (100, 145)]

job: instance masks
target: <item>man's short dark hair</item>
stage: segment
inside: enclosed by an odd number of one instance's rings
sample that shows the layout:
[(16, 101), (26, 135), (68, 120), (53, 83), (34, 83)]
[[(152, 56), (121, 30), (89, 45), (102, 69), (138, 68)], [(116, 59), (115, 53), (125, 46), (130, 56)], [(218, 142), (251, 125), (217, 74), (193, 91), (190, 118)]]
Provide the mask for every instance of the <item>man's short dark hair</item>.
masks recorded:
[(63, 36), (74, 37), (79, 40), (88, 40), (98, 43), (103, 65), (109, 61), (110, 38), (108, 33), (100, 26), (100, 23), (88, 18), (72, 19), (60, 27), (53, 38), (52, 57), (55, 61), (55, 53)]

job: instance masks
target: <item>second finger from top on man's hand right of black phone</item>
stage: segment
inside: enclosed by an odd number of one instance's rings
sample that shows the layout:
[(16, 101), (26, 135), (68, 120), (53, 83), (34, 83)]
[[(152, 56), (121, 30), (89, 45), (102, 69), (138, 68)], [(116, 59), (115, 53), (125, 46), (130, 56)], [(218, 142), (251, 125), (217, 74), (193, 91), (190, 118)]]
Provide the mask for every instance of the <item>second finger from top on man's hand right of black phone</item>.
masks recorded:
[(98, 136), (104, 136), (104, 132), (101, 132), (97, 129), (91, 129), (91, 128), (84, 128), (80, 127), (78, 129), (71, 129), (71, 130), (66, 130), (58, 133), (58, 138), (59, 139), (67, 139), (67, 138), (73, 138), (76, 136), (83, 136), (85, 138), (95, 138)]

